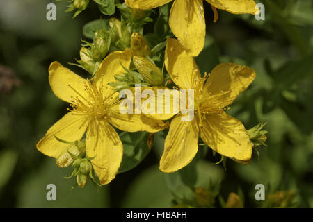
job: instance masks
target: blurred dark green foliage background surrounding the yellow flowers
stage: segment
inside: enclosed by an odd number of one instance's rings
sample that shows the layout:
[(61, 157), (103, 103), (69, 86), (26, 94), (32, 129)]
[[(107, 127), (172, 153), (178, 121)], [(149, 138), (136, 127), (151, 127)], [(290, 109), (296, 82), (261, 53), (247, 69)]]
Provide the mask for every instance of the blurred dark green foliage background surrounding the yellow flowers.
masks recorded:
[[(188, 168), (166, 175), (158, 169), (165, 136), (161, 132), (135, 169), (118, 174), (105, 187), (89, 182), (84, 189), (73, 190), (72, 180), (64, 178), (71, 167), (56, 167), (54, 159), (35, 148), (67, 108), (51, 92), (47, 70), (58, 60), (86, 76), (83, 69), (66, 62), (79, 59), (81, 39), (86, 40), (83, 25), (105, 16), (90, 1), (87, 10), (72, 19), (72, 13), (64, 12), (66, 3), (58, 2), (57, 20), (49, 22), (47, 3), (55, 2), (0, 0), (0, 207), (173, 207), (180, 204), (177, 199), (194, 195), (184, 187), (188, 182), (205, 187), (208, 181), (216, 186), (220, 182), (220, 198), (240, 194), (245, 207), (262, 207), (254, 198), (258, 183), (266, 186), (266, 195), (293, 191), (291, 207), (313, 207), (311, 0), (257, 1), (266, 6), (265, 21), (219, 10), (216, 24), (204, 1), (207, 41), (196, 60), (202, 73), (219, 62), (255, 69), (257, 78), (236, 99), (230, 114), (246, 128), (267, 122), (268, 146), (258, 148), (259, 158), (254, 151), (248, 166), (227, 160), (225, 170), (213, 164), (218, 156), (200, 147), (204, 160), (189, 167), (190, 172)], [(152, 30), (153, 23), (146, 27)], [(188, 175), (187, 182), (182, 175)], [(51, 202), (46, 200), (50, 183), (56, 185), (56, 201)]]

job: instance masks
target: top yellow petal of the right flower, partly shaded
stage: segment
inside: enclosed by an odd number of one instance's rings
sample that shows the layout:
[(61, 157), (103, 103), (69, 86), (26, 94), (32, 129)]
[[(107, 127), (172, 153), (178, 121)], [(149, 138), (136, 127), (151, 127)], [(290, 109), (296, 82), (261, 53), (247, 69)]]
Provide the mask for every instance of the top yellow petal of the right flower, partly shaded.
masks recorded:
[(192, 56), (175, 39), (166, 42), (165, 65), (170, 78), (181, 89), (198, 89), (202, 87), (200, 70)]

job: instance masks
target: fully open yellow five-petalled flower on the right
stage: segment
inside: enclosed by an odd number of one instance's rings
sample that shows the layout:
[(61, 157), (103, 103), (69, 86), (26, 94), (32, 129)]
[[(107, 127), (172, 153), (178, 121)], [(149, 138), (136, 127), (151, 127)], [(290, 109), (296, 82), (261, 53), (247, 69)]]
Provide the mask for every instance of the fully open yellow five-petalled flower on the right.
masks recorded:
[(180, 89), (194, 89), (194, 118), (182, 121), (177, 114), (170, 123), (160, 169), (171, 173), (186, 166), (198, 151), (198, 135), (214, 151), (234, 160), (251, 158), (252, 146), (246, 129), (238, 119), (223, 111), (252, 83), (255, 71), (234, 63), (217, 65), (207, 82), (200, 70), (175, 39), (166, 44), (166, 69)]

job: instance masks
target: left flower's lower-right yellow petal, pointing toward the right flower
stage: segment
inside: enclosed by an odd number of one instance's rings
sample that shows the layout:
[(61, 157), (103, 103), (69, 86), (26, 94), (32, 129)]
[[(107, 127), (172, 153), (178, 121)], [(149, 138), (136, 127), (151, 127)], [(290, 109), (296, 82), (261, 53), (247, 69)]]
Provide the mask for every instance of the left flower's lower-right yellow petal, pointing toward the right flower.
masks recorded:
[(152, 119), (144, 114), (135, 114), (134, 110), (133, 114), (123, 114), (120, 112), (120, 103), (122, 101), (113, 105), (107, 114), (107, 121), (116, 128), (127, 132), (147, 131), (150, 133), (168, 128), (168, 123)]

